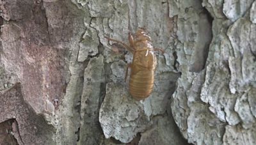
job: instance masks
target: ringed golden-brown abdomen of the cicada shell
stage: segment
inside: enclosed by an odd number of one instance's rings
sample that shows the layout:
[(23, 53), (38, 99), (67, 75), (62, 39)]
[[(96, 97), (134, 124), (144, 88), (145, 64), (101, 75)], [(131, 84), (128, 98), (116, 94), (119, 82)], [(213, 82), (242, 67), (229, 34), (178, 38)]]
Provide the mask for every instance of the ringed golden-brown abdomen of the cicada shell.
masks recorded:
[(154, 71), (138, 71), (131, 75), (129, 81), (129, 92), (137, 100), (147, 98), (153, 90)]

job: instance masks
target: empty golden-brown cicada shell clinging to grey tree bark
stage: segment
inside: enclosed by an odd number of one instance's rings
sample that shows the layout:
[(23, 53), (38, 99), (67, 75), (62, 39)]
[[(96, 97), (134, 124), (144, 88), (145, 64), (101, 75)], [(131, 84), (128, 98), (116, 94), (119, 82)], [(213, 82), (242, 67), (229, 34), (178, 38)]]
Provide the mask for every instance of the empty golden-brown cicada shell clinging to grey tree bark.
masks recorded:
[(164, 50), (152, 46), (152, 39), (143, 28), (139, 28), (134, 36), (129, 32), (129, 45), (116, 39), (107, 39), (123, 45), (124, 48), (133, 54), (132, 63), (128, 64), (125, 72), (126, 80), (128, 71), (131, 69), (129, 93), (136, 100), (147, 98), (154, 87), (154, 72), (156, 71), (157, 65), (157, 58), (154, 51), (164, 53)]

